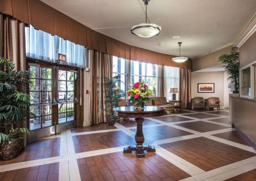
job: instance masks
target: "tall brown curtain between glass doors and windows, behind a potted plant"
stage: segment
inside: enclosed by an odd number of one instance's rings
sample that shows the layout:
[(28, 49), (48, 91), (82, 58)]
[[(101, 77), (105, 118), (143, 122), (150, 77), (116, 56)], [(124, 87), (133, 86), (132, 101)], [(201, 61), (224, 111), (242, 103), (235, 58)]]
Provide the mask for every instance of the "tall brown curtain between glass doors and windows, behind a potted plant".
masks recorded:
[(112, 77), (112, 56), (90, 50), (90, 108), (91, 124), (106, 122), (104, 112), (104, 78)]

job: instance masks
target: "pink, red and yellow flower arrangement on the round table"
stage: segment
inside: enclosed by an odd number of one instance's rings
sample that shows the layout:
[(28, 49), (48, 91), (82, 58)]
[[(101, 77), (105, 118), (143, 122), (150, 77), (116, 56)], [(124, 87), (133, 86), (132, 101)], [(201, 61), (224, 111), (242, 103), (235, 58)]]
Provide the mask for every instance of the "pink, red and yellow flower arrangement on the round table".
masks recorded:
[(136, 82), (129, 87), (126, 96), (129, 101), (134, 103), (134, 105), (138, 103), (147, 103), (152, 96), (152, 91), (148, 89), (148, 85), (144, 82)]

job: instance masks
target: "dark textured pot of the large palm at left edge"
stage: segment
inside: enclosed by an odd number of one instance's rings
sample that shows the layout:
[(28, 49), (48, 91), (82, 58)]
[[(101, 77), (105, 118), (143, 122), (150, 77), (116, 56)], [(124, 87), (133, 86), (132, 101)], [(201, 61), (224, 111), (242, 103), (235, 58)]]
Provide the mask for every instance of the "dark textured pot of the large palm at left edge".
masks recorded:
[(21, 150), (20, 140), (3, 143), (0, 147), (0, 159), (10, 160), (19, 156)]

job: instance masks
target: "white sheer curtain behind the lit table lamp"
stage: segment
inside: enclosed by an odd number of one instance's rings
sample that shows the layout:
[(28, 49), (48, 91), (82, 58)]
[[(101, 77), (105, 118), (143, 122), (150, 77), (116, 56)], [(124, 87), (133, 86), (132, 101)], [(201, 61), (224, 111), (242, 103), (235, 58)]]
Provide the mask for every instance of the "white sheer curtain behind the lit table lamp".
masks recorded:
[[(164, 66), (164, 96), (167, 101), (172, 100), (170, 88), (179, 88), (179, 69)], [(179, 94), (176, 94), (176, 99), (179, 100)]]

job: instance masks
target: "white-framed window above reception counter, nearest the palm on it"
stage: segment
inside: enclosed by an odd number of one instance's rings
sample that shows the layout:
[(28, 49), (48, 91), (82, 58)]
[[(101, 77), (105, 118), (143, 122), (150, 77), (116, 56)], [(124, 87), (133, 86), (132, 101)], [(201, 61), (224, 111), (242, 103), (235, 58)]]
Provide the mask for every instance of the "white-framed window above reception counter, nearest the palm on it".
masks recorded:
[(250, 67), (241, 71), (241, 95), (251, 96), (251, 69)]

